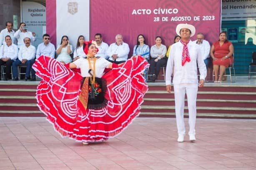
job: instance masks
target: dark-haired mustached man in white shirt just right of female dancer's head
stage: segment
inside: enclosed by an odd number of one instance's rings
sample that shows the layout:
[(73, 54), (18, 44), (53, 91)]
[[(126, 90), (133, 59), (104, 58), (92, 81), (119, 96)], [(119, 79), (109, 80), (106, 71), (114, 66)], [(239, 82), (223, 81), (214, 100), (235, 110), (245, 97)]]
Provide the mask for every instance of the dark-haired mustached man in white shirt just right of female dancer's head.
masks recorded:
[(102, 41), (102, 36), (100, 33), (95, 34), (94, 38), (99, 49), (98, 53), (95, 56), (104, 57), (105, 59), (108, 59), (108, 55), (106, 53), (108, 50), (108, 44)]

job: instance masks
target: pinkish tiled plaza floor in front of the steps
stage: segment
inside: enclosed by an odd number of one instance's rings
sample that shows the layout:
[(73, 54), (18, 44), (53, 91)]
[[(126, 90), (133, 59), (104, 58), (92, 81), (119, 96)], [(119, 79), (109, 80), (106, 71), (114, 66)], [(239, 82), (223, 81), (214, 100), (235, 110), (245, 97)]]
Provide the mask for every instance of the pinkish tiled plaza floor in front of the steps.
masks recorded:
[(176, 142), (175, 118), (136, 118), (82, 145), (43, 117), (0, 117), (0, 170), (256, 170), (256, 120), (197, 119), (196, 138)]

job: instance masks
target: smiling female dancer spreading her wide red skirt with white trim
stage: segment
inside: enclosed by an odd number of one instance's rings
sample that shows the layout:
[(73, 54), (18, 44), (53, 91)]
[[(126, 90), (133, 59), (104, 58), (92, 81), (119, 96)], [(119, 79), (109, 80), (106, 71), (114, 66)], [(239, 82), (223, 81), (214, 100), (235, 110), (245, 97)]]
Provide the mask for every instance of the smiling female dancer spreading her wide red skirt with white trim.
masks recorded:
[[(87, 42), (88, 43), (88, 42)], [(142, 57), (120, 65), (95, 57), (97, 44), (85, 47), (87, 58), (61, 64), (39, 57), (33, 69), (42, 79), (36, 98), (38, 107), (61, 136), (87, 144), (118, 135), (139, 115), (148, 90)], [(71, 70), (80, 69), (81, 74)], [(105, 68), (112, 69), (103, 74)]]

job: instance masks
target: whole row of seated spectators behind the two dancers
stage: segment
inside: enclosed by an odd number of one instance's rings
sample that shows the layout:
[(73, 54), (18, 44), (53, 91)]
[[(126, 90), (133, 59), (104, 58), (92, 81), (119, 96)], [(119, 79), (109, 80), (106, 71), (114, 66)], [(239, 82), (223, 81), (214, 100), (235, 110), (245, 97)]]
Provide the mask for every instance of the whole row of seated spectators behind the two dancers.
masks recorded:
[[(75, 48), (70, 44), (68, 36), (64, 35), (61, 38), (60, 44), (57, 44), (55, 49), (55, 46), (50, 43), (50, 35), (44, 34), (43, 42), (36, 49), (31, 44), (31, 42), (36, 41), (35, 33), (28, 31), (25, 23), (21, 22), (16, 32), (12, 28), (13, 23), (8, 21), (6, 22), (6, 28), (0, 32), (0, 66), (4, 65), (6, 67), (5, 76), (3, 77), (6, 81), (9, 79), (13, 81), (19, 80), (18, 66), (20, 65), (26, 66), (25, 81), (36, 81), (35, 70), (32, 69), (32, 65), (35, 63), (35, 59), (41, 55), (55, 58), (63, 64), (73, 62), (80, 57), (86, 57), (84, 52), (85, 37), (83, 35), (78, 37)], [(174, 36), (173, 43), (180, 41), (180, 39), (180, 36)], [(115, 42), (108, 45), (103, 42), (102, 35), (97, 33), (95, 34), (95, 42), (99, 49), (96, 57), (104, 57), (115, 64), (123, 63), (129, 58), (130, 48), (127, 43), (123, 42), (121, 34), (117, 34)], [(146, 82), (154, 82), (158, 77), (161, 67), (166, 67), (167, 57), (171, 57), (169, 56), (171, 45), (168, 45), (167, 50), (166, 45), (162, 44), (162, 37), (160, 36), (156, 36), (155, 42), (156, 44), (149, 47), (146, 44), (145, 36), (139, 34), (133, 48), (132, 55), (134, 57), (140, 55), (150, 64), (149, 70), (146, 69), (143, 72)], [(206, 67), (211, 62), (210, 57), (213, 59), (213, 70), (216, 75), (214, 82), (221, 83), (226, 67), (233, 62), (233, 45), (226, 39), (226, 33), (222, 32), (219, 40), (212, 47), (204, 39), (204, 35), (201, 32), (196, 35), (196, 40), (193, 42), (200, 46), (201, 55)], [(73, 58), (70, 54), (73, 54)], [(151, 76), (148, 76), (148, 71), (150, 71)]]

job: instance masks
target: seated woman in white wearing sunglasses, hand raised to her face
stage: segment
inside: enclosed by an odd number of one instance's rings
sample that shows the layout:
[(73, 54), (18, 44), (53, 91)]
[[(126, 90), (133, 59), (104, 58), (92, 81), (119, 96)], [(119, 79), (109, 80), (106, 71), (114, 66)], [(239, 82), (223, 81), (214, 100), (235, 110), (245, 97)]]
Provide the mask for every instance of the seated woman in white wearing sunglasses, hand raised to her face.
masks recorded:
[(70, 54), (72, 54), (72, 45), (69, 44), (68, 36), (64, 35), (61, 38), (61, 44), (58, 45), (56, 54), (58, 54), (56, 59), (59, 62), (64, 64), (72, 62), (70, 57)]

